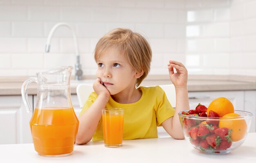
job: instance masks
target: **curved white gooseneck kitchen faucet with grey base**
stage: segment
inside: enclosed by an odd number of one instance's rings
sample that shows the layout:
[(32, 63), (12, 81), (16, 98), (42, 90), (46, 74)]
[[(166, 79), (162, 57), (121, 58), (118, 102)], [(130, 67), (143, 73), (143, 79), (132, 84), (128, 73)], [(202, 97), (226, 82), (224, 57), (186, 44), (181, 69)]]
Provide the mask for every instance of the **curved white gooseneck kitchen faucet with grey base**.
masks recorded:
[(83, 71), (81, 70), (81, 64), (80, 64), (80, 55), (78, 53), (78, 46), (77, 46), (77, 39), (76, 39), (76, 34), (75, 34), (75, 31), (74, 29), (67, 23), (64, 23), (64, 22), (60, 22), (60, 23), (57, 23), (55, 24), (49, 35), (48, 35), (48, 38), (47, 38), (47, 43), (46, 43), (46, 47), (45, 47), (45, 52), (49, 52), (50, 51), (50, 43), (51, 43), (51, 39), (52, 39), (52, 35), (54, 33), (54, 31), (60, 27), (60, 26), (67, 26), (68, 28), (70, 28), (70, 30), (72, 31), (72, 34), (73, 34), (73, 38), (74, 38), (74, 46), (75, 46), (75, 53), (76, 53), (76, 63), (75, 63), (75, 80), (81, 80), (82, 78), (82, 75), (83, 75)]

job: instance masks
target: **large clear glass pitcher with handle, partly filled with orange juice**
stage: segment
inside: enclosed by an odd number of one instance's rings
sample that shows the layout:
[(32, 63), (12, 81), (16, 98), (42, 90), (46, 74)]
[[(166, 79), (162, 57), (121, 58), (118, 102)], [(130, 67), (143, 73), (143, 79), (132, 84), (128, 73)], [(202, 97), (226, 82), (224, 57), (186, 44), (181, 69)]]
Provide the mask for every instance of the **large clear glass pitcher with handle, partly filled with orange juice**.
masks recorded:
[(38, 84), (37, 102), (30, 120), (34, 148), (43, 156), (66, 156), (72, 153), (79, 126), (74, 112), (70, 77), (73, 67), (56, 67), (39, 72), (22, 85), (21, 94), (27, 112), (32, 113), (27, 86)]

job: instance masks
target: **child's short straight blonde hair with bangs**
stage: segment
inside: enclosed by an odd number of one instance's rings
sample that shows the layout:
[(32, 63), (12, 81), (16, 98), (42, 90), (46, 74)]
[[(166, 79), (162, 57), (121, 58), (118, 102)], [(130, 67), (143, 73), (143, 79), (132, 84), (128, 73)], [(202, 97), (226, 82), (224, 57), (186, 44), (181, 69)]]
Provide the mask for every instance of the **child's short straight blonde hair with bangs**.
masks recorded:
[(118, 48), (134, 71), (144, 70), (135, 83), (138, 87), (150, 70), (152, 51), (148, 41), (139, 33), (132, 32), (128, 28), (115, 28), (99, 39), (94, 50), (95, 61), (97, 62), (104, 50), (110, 47)]

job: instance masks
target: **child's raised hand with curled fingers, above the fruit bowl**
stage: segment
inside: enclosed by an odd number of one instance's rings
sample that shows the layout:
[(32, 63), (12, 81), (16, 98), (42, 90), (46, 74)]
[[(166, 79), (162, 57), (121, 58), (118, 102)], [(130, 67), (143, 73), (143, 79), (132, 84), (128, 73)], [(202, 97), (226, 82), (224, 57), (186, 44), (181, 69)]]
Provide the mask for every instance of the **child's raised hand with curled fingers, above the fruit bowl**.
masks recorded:
[[(176, 69), (176, 73), (174, 73), (173, 68)], [(170, 79), (175, 87), (186, 87), (188, 81), (188, 71), (182, 63), (177, 61), (169, 61), (168, 70)]]

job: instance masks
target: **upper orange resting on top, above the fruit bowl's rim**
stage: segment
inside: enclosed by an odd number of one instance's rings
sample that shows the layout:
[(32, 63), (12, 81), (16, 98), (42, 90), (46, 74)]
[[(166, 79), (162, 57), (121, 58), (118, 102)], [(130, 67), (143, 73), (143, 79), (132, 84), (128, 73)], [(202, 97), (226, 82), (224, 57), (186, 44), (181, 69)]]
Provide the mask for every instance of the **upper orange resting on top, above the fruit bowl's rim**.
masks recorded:
[(228, 113), (234, 113), (234, 106), (227, 98), (220, 97), (216, 98), (209, 104), (207, 117), (209, 115), (209, 111), (214, 111), (219, 115), (219, 117), (223, 117), (223, 115)]

